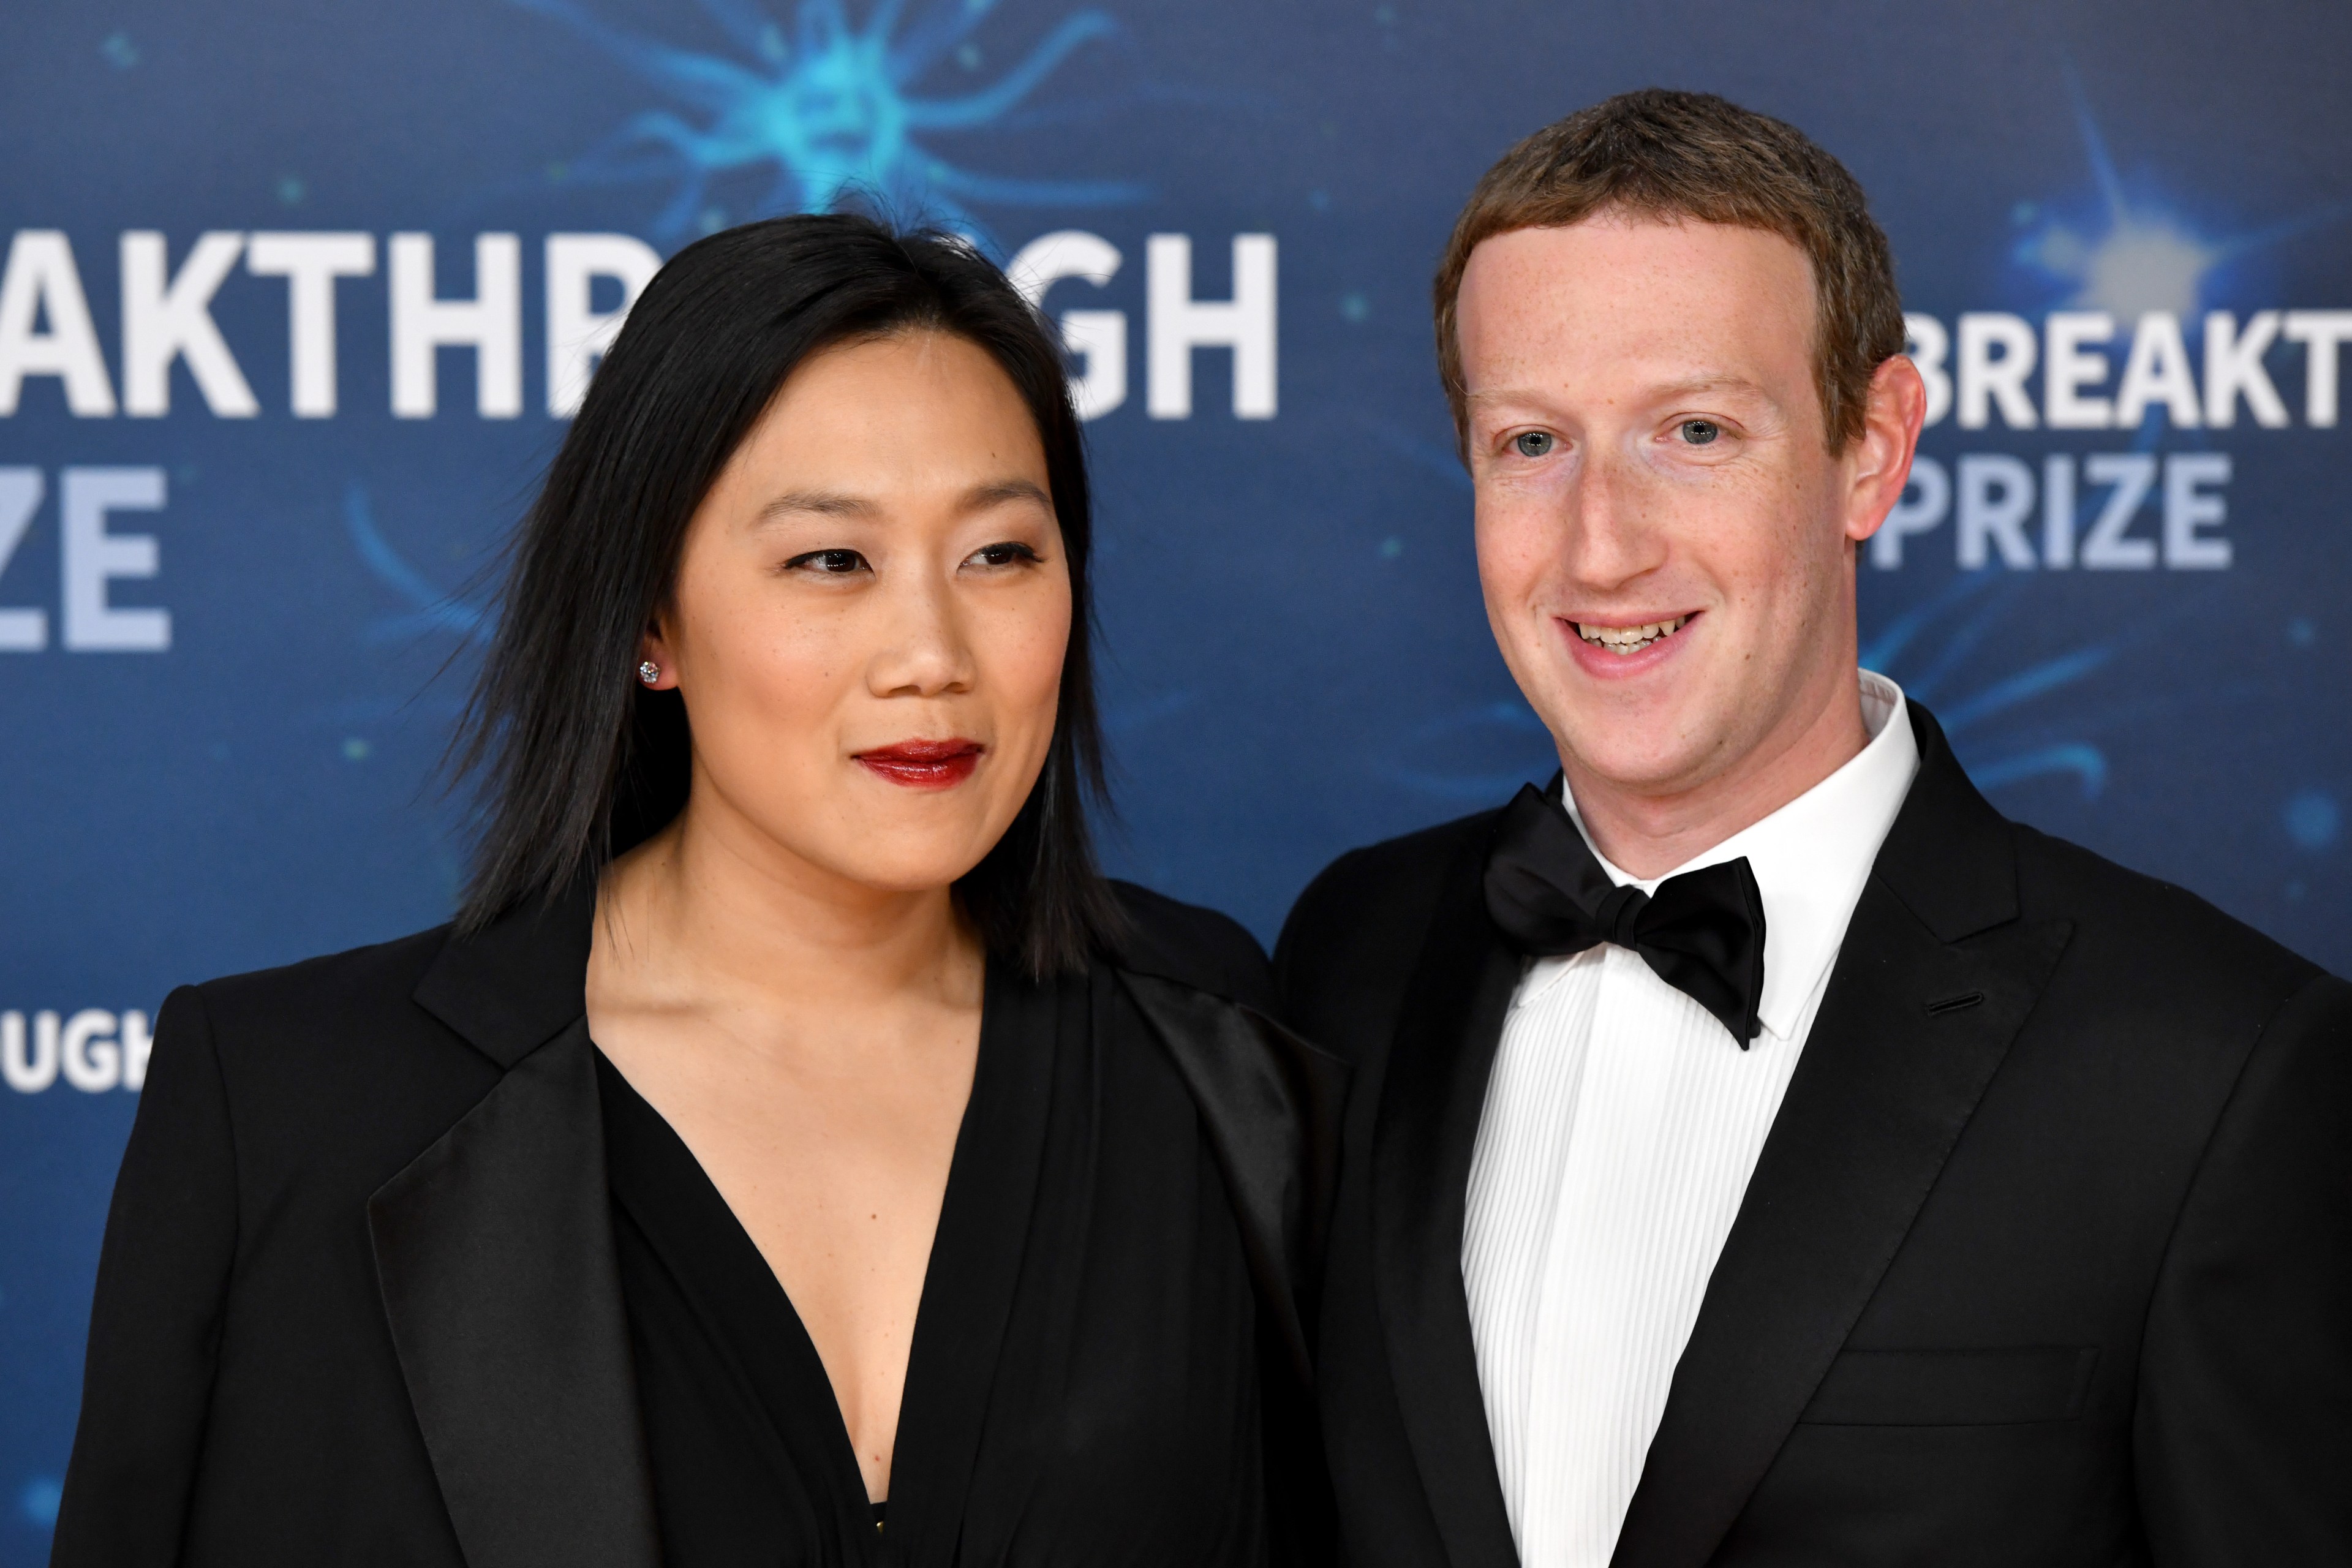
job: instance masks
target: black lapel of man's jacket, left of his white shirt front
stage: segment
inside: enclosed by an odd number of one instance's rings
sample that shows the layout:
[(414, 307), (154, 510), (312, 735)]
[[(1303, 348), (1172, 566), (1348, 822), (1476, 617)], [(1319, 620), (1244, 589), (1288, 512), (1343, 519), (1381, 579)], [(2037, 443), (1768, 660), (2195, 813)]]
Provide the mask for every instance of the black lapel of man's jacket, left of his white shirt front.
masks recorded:
[(1463, 1213), (1503, 1013), (1519, 983), (1486, 914), (1482, 837), (1446, 877), (1390, 1046), (1371, 1147), (1374, 1288), (1388, 1366), (1454, 1568), (1519, 1561), (1479, 1394)]

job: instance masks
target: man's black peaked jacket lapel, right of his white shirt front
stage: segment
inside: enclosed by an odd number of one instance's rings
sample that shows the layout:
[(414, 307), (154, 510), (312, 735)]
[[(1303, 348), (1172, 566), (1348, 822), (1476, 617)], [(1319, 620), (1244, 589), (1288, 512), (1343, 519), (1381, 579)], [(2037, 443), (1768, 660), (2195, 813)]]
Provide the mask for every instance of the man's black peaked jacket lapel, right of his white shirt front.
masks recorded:
[[(1708, 1281), (1613, 1568), (1698, 1568), (1771, 1467), (1976, 1112), (2072, 926), (1943, 943), (1884, 879)], [(1929, 1013), (1938, 999), (1983, 1001)]]

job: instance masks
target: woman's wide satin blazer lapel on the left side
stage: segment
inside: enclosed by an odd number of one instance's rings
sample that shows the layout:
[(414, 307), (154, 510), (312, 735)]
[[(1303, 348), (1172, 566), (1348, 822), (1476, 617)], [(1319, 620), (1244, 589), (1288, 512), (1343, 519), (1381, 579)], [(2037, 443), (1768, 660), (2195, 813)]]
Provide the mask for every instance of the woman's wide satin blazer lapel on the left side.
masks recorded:
[(470, 1568), (656, 1568), (588, 1023), (367, 1204), (383, 1312)]

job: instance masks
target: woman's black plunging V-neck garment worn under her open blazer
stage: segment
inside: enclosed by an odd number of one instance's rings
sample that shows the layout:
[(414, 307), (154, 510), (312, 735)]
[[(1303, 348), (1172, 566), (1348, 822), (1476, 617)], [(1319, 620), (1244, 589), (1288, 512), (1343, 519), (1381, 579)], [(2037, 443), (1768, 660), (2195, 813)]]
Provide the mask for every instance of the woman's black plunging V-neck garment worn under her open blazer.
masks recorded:
[(1110, 978), (988, 976), (887, 1528), (800, 1316), (597, 1056), (668, 1568), (1263, 1563), (1256, 1302), (1192, 1098)]

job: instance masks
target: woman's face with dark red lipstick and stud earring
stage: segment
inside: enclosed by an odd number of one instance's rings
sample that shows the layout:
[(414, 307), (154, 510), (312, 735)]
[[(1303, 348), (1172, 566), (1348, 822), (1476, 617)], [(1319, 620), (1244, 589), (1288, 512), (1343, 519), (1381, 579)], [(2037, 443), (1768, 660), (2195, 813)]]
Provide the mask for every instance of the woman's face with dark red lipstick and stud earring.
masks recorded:
[(1028, 407), (983, 348), (908, 331), (793, 371), (694, 512), (644, 656), (722, 844), (922, 891), (1028, 799), (1068, 644)]

